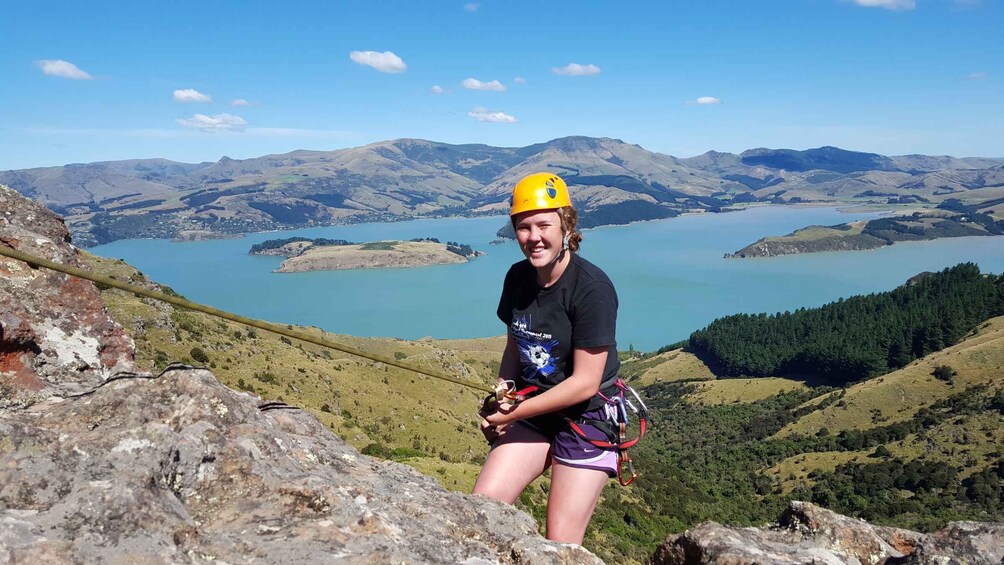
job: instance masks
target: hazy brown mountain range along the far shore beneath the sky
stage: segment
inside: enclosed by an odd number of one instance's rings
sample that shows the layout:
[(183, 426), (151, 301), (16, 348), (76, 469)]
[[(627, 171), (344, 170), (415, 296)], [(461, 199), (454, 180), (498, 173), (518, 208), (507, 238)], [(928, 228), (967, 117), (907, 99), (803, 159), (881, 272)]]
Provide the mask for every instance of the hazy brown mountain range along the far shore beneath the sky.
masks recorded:
[(884, 157), (831, 147), (678, 159), (585, 136), (525, 148), (406, 138), (216, 163), (75, 164), (0, 172), (0, 184), (64, 216), (75, 241), (86, 246), (502, 213), (512, 185), (537, 171), (568, 182), (583, 227), (753, 202), (936, 206), (949, 195), (967, 203), (1004, 197), (1004, 165), (990, 159)]

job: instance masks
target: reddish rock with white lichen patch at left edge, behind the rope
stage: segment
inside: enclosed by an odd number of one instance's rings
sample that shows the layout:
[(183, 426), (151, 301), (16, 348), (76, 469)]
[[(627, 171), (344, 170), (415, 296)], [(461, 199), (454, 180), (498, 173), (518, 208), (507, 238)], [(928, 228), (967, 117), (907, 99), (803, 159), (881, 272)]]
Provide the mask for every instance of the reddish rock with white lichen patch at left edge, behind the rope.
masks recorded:
[[(0, 186), (0, 245), (74, 267), (65, 224)], [(0, 405), (93, 386), (132, 370), (133, 340), (93, 284), (0, 257)]]

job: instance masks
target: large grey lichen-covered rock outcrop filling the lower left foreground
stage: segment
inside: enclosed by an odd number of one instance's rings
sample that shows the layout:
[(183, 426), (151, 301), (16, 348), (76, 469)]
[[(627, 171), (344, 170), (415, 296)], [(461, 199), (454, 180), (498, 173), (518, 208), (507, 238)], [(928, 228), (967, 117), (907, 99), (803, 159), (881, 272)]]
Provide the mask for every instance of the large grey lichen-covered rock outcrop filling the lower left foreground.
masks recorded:
[[(0, 190), (0, 244), (74, 264)], [(204, 369), (137, 374), (88, 282), (0, 261), (0, 563), (599, 563)]]

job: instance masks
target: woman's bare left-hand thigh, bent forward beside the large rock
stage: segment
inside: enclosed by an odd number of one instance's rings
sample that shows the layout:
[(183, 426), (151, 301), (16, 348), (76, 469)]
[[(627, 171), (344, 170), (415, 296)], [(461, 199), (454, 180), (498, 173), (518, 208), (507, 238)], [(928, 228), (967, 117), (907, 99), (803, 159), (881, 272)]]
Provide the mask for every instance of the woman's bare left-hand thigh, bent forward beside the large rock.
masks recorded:
[(512, 504), (550, 465), (551, 443), (518, 422), (509, 426), (488, 454), (474, 494)]

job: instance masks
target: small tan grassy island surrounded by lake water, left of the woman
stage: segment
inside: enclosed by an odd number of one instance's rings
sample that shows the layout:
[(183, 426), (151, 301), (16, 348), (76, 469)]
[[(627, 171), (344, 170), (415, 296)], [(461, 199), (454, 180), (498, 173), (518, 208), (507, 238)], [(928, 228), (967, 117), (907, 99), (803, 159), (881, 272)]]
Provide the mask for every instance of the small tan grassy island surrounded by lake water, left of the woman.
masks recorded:
[(251, 255), (286, 257), (276, 273), (338, 269), (384, 269), (466, 263), (484, 255), (470, 245), (442, 243), (436, 238), (353, 243), (324, 238), (268, 240), (251, 247)]

